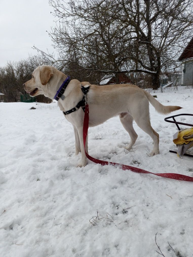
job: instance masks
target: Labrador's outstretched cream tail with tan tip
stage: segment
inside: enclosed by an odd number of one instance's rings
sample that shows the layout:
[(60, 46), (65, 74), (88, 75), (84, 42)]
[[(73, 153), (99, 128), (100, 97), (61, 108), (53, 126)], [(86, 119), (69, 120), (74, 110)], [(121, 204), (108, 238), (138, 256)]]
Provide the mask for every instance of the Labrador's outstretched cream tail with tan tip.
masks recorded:
[[(144, 90), (145, 91), (145, 90)], [(157, 112), (162, 113), (162, 114), (168, 114), (173, 111), (177, 111), (181, 109), (182, 107), (180, 106), (174, 106), (174, 105), (168, 105), (164, 106), (160, 104), (151, 94), (149, 94), (147, 91), (145, 91), (145, 95), (147, 96), (147, 99), (149, 102), (153, 105), (153, 107), (156, 109)]]

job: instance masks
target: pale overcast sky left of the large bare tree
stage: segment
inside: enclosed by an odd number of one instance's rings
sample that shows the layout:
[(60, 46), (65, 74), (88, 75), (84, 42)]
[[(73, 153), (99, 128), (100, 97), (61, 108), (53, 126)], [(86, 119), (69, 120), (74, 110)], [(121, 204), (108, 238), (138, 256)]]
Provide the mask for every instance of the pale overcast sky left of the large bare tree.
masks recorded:
[(31, 47), (53, 51), (46, 32), (54, 26), (48, 0), (0, 1), (0, 66), (37, 54)]

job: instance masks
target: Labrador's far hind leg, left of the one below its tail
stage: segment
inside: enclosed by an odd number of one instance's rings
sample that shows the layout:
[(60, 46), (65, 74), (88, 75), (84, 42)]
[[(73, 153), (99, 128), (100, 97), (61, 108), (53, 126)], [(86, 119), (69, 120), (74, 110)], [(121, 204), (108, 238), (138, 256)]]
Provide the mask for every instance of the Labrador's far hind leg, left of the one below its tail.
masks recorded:
[(130, 143), (125, 149), (130, 150), (137, 139), (137, 133), (133, 128), (133, 117), (129, 113), (120, 113), (119, 118), (125, 130), (129, 133)]

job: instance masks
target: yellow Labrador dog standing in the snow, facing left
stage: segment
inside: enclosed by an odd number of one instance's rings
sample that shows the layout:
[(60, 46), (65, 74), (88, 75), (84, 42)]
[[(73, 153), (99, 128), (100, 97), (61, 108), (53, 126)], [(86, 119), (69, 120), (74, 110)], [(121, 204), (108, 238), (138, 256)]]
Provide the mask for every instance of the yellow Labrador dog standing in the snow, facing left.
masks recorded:
[[(33, 71), (32, 78), (23, 86), (31, 96), (43, 94), (54, 99), (57, 90), (66, 78), (67, 76), (56, 68), (42, 65)], [(137, 139), (137, 134), (133, 128), (133, 120), (135, 120), (137, 125), (153, 139), (154, 146), (150, 155), (159, 153), (159, 134), (153, 130), (150, 124), (149, 102), (157, 112), (162, 114), (179, 110), (181, 109), (180, 106), (164, 106), (148, 92), (135, 85), (96, 86), (89, 82), (82, 82), (82, 84), (90, 86), (87, 94), (90, 127), (97, 126), (111, 117), (119, 115), (122, 125), (130, 136), (130, 143), (126, 147), (127, 150), (130, 150)], [(65, 112), (76, 106), (83, 98), (81, 82), (72, 79), (66, 87), (63, 98), (63, 100), (61, 98), (58, 100), (60, 110)], [(77, 167), (84, 167), (87, 158), (83, 145), (83, 109), (79, 108), (65, 117), (74, 127), (75, 154), (77, 155), (80, 151), (82, 154), (81, 162)]]

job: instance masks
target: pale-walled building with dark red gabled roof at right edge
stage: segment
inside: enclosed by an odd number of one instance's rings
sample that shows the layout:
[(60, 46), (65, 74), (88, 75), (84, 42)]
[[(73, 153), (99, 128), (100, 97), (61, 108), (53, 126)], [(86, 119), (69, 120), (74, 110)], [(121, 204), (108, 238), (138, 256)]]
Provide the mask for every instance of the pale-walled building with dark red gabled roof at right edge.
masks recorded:
[(183, 50), (179, 60), (182, 61), (181, 85), (193, 86), (193, 38)]

